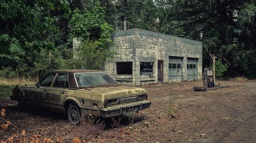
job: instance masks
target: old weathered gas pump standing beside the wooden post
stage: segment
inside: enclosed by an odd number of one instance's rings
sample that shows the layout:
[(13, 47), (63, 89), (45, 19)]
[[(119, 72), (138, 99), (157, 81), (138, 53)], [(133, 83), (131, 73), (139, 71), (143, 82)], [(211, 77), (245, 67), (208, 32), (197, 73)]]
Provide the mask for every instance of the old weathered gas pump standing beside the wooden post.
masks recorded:
[(203, 85), (206, 88), (214, 88), (214, 78), (212, 69), (205, 68), (203, 73)]

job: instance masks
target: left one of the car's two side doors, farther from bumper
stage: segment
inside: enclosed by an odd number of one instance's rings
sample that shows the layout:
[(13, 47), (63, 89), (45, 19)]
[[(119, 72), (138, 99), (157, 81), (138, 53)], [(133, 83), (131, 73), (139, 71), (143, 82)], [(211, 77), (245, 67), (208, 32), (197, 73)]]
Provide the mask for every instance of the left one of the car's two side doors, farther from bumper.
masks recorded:
[(28, 100), (32, 105), (40, 108), (48, 108), (46, 94), (52, 85), (54, 77), (55, 74), (48, 74), (38, 81), (37, 89), (28, 95)]

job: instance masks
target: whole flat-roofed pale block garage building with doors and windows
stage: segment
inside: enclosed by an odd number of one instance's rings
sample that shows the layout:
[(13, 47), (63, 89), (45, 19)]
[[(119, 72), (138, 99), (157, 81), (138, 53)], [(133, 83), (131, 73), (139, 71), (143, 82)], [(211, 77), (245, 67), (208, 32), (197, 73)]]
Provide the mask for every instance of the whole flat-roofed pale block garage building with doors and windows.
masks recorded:
[(202, 77), (202, 42), (140, 29), (114, 33), (115, 58), (105, 71), (122, 84), (142, 85)]

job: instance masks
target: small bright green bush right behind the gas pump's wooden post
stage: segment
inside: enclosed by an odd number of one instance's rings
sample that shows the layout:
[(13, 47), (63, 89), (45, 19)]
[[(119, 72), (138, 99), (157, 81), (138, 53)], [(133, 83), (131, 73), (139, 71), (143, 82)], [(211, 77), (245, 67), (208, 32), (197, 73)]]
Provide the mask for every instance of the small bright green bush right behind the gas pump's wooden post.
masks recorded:
[[(213, 65), (210, 66), (212, 68)], [(215, 62), (215, 76), (218, 79), (223, 78), (223, 74), (227, 71), (228, 65), (222, 64), (221, 59)]]

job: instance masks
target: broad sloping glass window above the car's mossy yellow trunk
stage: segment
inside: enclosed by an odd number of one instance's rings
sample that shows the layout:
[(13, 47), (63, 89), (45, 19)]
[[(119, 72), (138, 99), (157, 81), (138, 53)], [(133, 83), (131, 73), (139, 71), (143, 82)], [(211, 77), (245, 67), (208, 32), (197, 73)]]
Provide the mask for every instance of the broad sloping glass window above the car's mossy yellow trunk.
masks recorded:
[(76, 73), (75, 77), (78, 88), (108, 87), (119, 84), (107, 73)]

